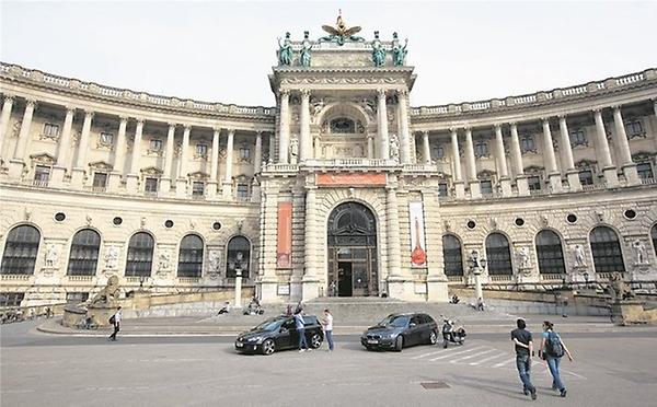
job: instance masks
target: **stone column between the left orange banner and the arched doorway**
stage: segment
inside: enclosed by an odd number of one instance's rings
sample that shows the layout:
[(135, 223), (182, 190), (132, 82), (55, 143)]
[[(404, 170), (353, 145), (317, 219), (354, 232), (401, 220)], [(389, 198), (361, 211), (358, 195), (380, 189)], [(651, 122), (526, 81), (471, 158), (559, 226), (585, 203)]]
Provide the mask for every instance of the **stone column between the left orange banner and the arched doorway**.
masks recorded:
[[(318, 267), (318, 258), (321, 256), (318, 221), (318, 200), (316, 187), (308, 187), (306, 189), (306, 224), (303, 235), (303, 256), (304, 256), (304, 272), (301, 279), (303, 300), (309, 300), (319, 296), (320, 276)], [(324, 287), (326, 292), (327, 287)]]

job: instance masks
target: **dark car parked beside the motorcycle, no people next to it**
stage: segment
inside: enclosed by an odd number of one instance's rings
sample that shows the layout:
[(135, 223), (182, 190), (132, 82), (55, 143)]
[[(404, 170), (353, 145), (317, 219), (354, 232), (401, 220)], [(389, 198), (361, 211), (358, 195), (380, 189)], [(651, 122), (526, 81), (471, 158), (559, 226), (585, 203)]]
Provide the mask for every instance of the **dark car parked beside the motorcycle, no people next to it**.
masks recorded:
[(427, 314), (390, 314), (383, 321), (369, 327), (360, 337), (367, 350), (394, 349), (413, 345), (436, 345), (438, 325)]

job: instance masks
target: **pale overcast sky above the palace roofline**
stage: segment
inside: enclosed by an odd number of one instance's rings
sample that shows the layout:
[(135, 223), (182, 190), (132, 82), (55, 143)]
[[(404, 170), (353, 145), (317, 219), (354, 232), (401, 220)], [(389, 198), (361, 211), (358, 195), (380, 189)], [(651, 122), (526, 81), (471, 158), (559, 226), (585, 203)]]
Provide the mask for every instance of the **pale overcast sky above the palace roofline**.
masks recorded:
[(0, 60), (181, 98), (275, 105), (277, 38), (342, 9), (366, 39), (408, 38), (411, 104), (567, 88), (657, 67), (657, 1), (5, 1)]

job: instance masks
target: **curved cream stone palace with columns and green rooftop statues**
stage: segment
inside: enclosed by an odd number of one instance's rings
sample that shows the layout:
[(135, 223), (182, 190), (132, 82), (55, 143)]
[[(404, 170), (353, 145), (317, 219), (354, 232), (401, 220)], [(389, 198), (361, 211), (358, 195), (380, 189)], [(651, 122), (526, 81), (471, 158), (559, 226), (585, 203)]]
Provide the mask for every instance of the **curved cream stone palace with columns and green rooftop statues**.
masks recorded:
[(472, 283), (474, 251), (500, 289), (618, 271), (655, 290), (657, 69), (411, 106), (396, 34), (325, 30), (280, 42), (274, 107), (0, 63), (0, 305), (84, 300), (114, 275), (438, 302)]

